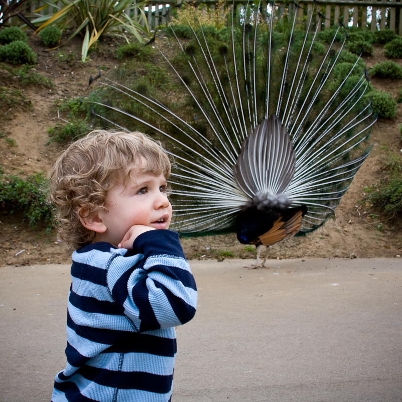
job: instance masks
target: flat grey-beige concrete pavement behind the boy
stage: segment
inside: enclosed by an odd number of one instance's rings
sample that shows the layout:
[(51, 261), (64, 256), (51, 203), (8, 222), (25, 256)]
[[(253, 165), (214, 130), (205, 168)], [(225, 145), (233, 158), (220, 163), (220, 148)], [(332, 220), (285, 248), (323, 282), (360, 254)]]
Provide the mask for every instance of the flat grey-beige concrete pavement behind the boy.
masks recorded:
[[(190, 261), (173, 402), (402, 401), (402, 261)], [(49, 401), (69, 266), (0, 268), (0, 402)]]

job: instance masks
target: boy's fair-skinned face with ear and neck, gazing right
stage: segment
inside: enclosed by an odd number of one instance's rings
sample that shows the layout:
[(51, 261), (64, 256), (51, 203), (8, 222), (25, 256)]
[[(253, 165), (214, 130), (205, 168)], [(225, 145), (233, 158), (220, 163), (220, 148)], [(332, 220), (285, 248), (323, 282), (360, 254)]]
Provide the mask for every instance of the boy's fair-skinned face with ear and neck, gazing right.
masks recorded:
[(106, 196), (109, 212), (101, 211), (98, 216), (106, 231), (96, 233), (94, 241), (107, 241), (115, 246), (133, 225), (145, 225), (155, 229), (168, 229), (172, 219), (172, 205), (166, 193), (165, 176), (153, 173), (131, 172), (124, 186), (120, 180)]

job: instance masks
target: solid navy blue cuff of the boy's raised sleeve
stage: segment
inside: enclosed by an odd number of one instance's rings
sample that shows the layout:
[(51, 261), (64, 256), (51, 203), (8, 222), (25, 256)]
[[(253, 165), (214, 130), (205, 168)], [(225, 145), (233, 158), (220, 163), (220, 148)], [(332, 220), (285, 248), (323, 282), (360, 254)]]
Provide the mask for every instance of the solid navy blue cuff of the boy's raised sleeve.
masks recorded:
[(179, 233), (169, 229), (149, 230), (140, 234), (132, 245), (135, 253), (150, 255), (169, 254), (185, 258)]

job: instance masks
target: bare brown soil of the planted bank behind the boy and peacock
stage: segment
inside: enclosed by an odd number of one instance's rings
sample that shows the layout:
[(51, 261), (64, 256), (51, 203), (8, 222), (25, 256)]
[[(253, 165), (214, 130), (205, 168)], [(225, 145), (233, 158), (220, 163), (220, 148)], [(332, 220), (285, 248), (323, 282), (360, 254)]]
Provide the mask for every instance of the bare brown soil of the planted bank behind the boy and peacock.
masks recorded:
[[(91, 61), (80, 62), (81, 43), (72, 40), (68, 47), (47, 50), (38, 36), (31, 36), (30, 46), (38, 55), (36, 72), (54, 82), (49, 88), (38, 84), (21, 84), (19, 77), (8, 78), (0, 69), (0, 79), (8, 93), (21, 91), (18, 102), (0, 110), (0, 165), (6, 174), (26, 177), (39, 172), (49, 172), (63, 146), (48, 144), (49, 127), (68, 117), (58, 112), (60, 100), (86, 96), (88, 78), (97, 74), (97, 66), (113, 69), (118, 61), (113, 51), (122, 44), (117, 39), (105, 37)], [(62, 56), (60, 56), (62, 54)], [(383, 50), (375, 47), (371, 57), (365, 57), (368, 67), (385, 60)], [(396, 60), (402, 65), (402, 60)], [(372, 79), (374, 87), (396, 96), (400, 82)], [(16, 93), (16, 92), (13, 92)], [(305, 236), (296, 236), (267, 248), (269, 258), (367, 258), (395, 257), (402, 254), (402, 222), (400, 216), (389, 216), (364, 202), (364, 188), (378, 184), (382, 177), (381, 159), (385, 151), (401, 155), (402, 144), (398, 126), (402, 122), (402, 108), (393, 119), (379, 119), (372, 131), (373, 149), (357, 173), (349, 190), (336, 208), (334, 219)], [(12, 139), (16, 146), (10, 144)], [(69, 263), (71, 254), (65, 250), (52, 230), (45, 227), (31, 228), (18, 214), (10, 214), (0, 205), (0, 266)], [(253, 246), (240, 244), (235, 234), (182, 237), (188, 259), (255, 258)], [(263, 253), (262, 253), (263, 255)]]

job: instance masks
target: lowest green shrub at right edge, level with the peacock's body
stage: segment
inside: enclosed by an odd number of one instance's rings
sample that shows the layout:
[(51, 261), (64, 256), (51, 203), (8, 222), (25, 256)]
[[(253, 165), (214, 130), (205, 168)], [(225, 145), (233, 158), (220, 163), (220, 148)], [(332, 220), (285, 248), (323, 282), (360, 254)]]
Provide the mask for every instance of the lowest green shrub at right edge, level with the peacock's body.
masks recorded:
[(388, 154), (382, 161), (384, 178), (378, 186), (365, 188), (366, 199), (390, 214), (402, 212), (402, 164), (398, 156)]

